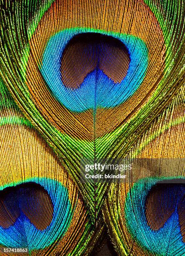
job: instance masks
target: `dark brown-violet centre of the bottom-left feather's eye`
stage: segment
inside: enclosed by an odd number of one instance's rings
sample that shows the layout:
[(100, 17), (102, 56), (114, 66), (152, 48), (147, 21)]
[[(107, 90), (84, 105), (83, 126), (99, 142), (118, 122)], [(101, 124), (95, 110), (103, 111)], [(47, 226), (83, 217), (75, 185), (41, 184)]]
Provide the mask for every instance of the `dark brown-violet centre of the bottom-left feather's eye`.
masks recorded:
[(1, 227), (13, 225), (21, 211), (36, 228), (46, 229), (53, 218), (53, 204), (46, 189), (28, 182), (0, 191)]

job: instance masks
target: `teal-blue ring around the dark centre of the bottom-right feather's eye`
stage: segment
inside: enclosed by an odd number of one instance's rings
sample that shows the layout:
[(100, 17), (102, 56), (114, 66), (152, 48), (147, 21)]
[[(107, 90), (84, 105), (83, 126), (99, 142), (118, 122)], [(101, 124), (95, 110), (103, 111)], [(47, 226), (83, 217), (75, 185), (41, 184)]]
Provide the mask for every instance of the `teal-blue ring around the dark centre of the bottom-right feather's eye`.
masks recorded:
[(157, 255), (166, 255), (167, 251), (172, 253), (170, 255), (184, 255), (185, 243), (183, 243), (180, 233), (177, 210), (157, 231), (152, 230), (147, 224), (144, 207), (147, 194), (152, 186), (165, 179), (177, 179), (177, 177), (142, 179), (134, 184), (125, 201), (126, 223), (133, 239), (138, 241), (140, 246), (147, 248), (148, 251), (157, 253)]

